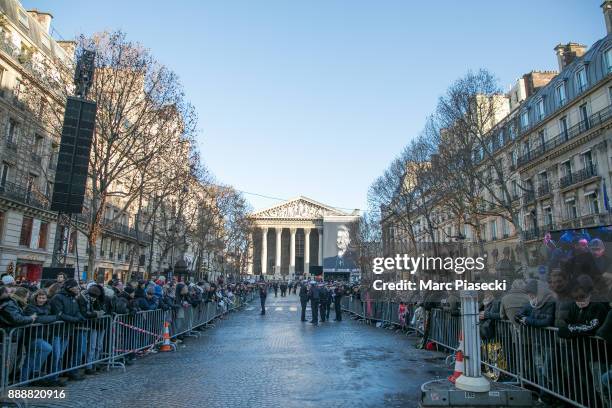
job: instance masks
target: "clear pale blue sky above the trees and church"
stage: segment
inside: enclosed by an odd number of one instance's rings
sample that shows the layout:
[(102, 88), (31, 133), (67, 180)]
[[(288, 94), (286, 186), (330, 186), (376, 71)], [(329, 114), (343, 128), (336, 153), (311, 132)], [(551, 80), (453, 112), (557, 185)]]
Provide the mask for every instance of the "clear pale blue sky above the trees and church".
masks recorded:
[[(446, 87), (505, 88), (605, 35), (601, 0), (23, 1), (64, 37), (122, 29), (176, 71), (207, 166), (236, 188), (366, 206)], [(277, 202), (247, 195), (255, 208)]]

